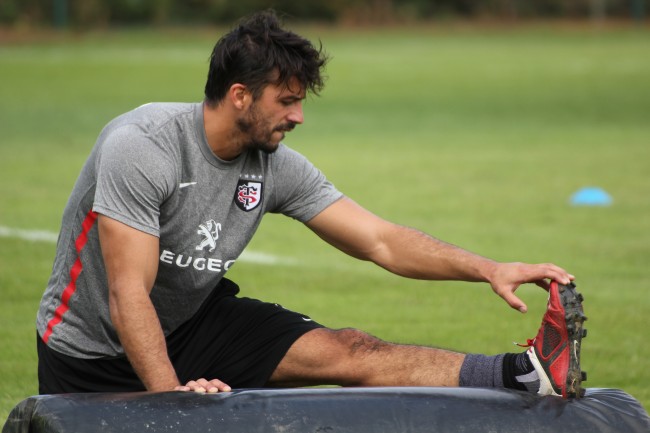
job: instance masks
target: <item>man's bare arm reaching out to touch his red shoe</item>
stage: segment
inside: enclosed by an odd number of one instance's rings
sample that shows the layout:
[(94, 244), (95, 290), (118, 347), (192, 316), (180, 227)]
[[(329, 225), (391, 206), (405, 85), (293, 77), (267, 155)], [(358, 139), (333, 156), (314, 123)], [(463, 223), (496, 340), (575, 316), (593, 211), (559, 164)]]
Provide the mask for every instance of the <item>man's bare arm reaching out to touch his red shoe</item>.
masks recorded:
[(401, 276), (425, 280), (484, 281), (512, 308), (526, 305), (514, 295), (523, 283), (548, 288), (545, 279), (568, 284), (573, 276), (553, 264), (499, 263), (390, 223), (344, 198), (307, 222), (307, 226), (345, 253), (370, 260)]

